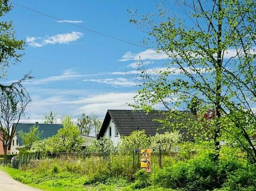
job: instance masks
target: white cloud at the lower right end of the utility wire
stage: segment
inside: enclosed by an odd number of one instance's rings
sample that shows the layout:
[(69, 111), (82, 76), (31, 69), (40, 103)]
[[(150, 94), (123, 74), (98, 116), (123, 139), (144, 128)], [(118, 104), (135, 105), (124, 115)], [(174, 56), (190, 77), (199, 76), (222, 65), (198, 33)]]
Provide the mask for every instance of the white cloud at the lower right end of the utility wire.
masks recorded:
[(144, 61), (144, 60), (166, 60), (169, 56), (165, 53), (157, 53), (154, 50), (145, 50), (140, 53), (126, 52), (118, 61)]

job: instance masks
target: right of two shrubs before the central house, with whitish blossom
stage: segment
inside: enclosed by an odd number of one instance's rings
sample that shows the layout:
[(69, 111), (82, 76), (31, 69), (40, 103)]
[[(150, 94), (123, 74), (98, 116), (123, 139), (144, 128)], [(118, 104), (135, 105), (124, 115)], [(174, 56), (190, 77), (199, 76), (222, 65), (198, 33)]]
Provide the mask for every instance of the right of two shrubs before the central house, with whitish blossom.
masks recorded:
[(156, 134), (151, 137), (151, 145), (159, 146), (161, 145), (161, 150), (165, 152), (170, 152), (174, 146), (177, 146), (181, 142), (181, 135), (177, 131), (165, 132), (164, 134)]

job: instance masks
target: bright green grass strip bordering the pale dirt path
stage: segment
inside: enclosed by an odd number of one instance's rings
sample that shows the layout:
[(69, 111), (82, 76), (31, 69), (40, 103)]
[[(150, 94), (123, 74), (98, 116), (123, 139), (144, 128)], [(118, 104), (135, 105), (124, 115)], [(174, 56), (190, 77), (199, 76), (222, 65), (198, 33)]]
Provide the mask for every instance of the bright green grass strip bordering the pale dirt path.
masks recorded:
[[(9, 167), (0, 167), (15, 180), (43, 191), (119, 191), (122, 190), (122, 181), (110, 180), (106, 184), (96, 183), (84, 185), (85, 176), (70, 172), (35, 173), (28, 170), (17, 170)], [(115, 182), (115, 183), (114, 183)], [(121, 183), (120, 183), (121, 182)], [(123, 183), (126, 185), (126, 183)]]

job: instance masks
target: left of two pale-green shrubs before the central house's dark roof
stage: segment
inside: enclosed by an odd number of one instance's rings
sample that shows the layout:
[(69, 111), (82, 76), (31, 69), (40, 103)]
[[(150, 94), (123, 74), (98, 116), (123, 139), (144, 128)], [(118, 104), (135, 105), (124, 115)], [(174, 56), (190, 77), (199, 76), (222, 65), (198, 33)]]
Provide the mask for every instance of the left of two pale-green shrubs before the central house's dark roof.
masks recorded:
[(148, 147), (150, 145), (150, 138), (145, 134), (145, 130), (133, 131), (129, 136), (122, 136), (118, 143), (120, 149), (137, 149)]

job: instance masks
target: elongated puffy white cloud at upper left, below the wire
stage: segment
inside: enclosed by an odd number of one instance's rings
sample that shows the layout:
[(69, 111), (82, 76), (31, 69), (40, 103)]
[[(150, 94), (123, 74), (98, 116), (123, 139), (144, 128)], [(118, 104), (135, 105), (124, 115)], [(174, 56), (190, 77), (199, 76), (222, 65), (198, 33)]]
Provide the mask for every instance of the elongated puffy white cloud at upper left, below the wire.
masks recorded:
[(58, 34), (51, 37), (27, 37), (26, 42), (28, 45), (33, 47), (41, 47), (45, 45), (55, 45), (55, 44), (68, 44), (70, 42), (76, 41), (79, 38), (83, 37), (83, 33), (81, 32), (72, 32), (72, 33), (65, 33), (65, 34)]

